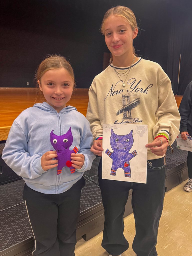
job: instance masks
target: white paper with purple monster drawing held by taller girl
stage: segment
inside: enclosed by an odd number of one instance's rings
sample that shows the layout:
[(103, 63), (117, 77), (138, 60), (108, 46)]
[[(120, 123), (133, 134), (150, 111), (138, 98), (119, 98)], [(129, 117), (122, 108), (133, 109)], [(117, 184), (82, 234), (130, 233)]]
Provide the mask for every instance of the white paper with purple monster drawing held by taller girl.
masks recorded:
[(102, 178), (146, 183), (147, 125), (103, 124)]

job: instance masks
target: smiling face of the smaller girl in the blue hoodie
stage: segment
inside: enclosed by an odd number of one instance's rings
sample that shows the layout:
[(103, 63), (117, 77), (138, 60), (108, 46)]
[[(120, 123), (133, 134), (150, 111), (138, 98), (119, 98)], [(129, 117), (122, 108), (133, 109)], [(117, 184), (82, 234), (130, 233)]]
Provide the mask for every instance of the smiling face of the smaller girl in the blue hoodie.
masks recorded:
[(50, 106), (57, 112), (66, 107), (73, 91), (73, 80), (65, 68), (50, 69), (37, 82)]

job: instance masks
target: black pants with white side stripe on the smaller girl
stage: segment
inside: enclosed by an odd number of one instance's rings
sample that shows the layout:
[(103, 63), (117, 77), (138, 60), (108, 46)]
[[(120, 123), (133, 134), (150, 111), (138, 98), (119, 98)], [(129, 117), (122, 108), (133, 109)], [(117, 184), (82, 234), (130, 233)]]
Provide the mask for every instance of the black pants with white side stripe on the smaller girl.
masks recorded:
[(82, 177), (61, 194), (43, 194), (26, 184), (23, 199), (34, 234), (33, 256), (74, 256)]

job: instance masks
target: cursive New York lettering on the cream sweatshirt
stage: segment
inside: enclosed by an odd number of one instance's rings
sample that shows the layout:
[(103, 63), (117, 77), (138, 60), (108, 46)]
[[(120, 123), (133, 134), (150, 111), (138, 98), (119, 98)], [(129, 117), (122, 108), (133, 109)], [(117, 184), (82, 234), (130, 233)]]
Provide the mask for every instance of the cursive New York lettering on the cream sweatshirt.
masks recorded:
[[(153, 84), (149, 84), (145, 89), (142, 88), (142, 87), (138, 87), (138, 85), (141, 83), (142, 80), (138, 81), (138, 83), (136, 83), (136, 79), (135, 78), (131, 78), (127, 81), (127, 84), (130, 85), (130, 89), (127, 89), (127, 92), (141, 92), (141, 93), (149, 93), (149, 89), (153, 86)], [(114, 87), (113, 87), (113, 84), (107, 94), (107, 96), (104, 98), (104, 100), (106, 100), (106, 98), (109, 96), (114, 96), (114, 95), (117, 95), (117, 94), (121, 94), (122, 92), (124, 92), (123, 89), (120, 89), (120, 90), (115, 90), (115, 86), (118, 84), (118, 83), (122, 83), (122, 81), (120, 80), (119, 82), (117, 82)]]

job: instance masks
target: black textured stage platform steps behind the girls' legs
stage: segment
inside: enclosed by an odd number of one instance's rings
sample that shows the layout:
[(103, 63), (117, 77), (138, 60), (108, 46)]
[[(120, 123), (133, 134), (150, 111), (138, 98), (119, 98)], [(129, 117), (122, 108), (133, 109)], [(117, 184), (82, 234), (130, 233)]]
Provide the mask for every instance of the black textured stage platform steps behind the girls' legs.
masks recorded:
[[(0, 144), (0, 256), (32, 255), (33, 237), (22, 198), (24, 180), (6, 166), (1, 158), (4, 143)], [(187, 151), (170, 148), (166, 155), (166, 191), (188, 178)], [(82, 189), (77, 238), (89, 240), (104, 225), (104, 209), (98, 183), (97, 169), (100, 157), (95, 158), (91, 170), (84, 173), (86, 185)], [(127, 200), (124, 217), (132, 213), (132, 190)]]

